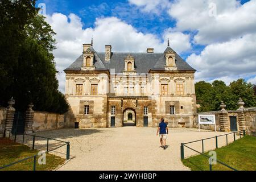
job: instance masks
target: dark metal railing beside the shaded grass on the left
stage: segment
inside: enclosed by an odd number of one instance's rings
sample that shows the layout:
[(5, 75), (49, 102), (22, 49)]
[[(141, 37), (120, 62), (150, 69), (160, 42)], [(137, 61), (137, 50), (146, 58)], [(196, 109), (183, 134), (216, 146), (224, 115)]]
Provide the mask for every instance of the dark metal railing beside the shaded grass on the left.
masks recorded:
[[(62, 141), (62, 140), (57, 140), (57, 139), (53, 139), (53, 138), (47, 138), (47, 137), (40, 137), (40, 136), (37, 136), (37, 135), (30, 135), (30, 134), (22, 134), (23, 135), (23, 138), (22, 138), (22, 145), (24, 145), (24, 137), (25, 135), (27, 136), (30, 136), (30, 137), (33, 137), (32, 139), (32, 150), (35, 150), (35, 139), (36, 138), (44, 138), (44, 139), (47, 139), (47, 150), (46, 152), (49, 153), (51, 151), (54, 151), (54, 150), (57, 150), (58, 148), (61, 148), (65, 145), (67, 145), (67, 151), (66, 151), (66, 159), (69, 160), (70, 159), (70, 143), (69, 142), (65, 142), (65, 141)], [(16, 138), (17, 138), (17, 134), (14, 135), (14, 142), (16, 142)], [(9, 139), (10, 139), (10, 132), (9, 132)], [(56, 148), (53, 148), (51, 150), (49, 150), (49, 140), (55, 140), (57, 142), (62, 142), (64, 144), (62, 144), (61, 146), (58, 146)], [(20, 162), (23, 162), (25, 160), (28, 160), (28, 159), (32, 159), (34, 158), (34, 164), (33, 164), (33, 171), (36, 171), (36, 156), (38, 155), (33, 155), (33, 156), (30, 156), (28, 158), (25, 158), (25, 159), (22, 159), (22, 160), (18, 160), (17, 162), (14, 162), (14, 163), (11, 163), (11, 164), (7, 164), (6, 166), (2, 166), (0, 167), (0, 169), (4, 169), (4, 168), (7, 168), (7, 167), (10, 167), (10, 166), (14, 166), (15, 164), (18, 164)]]

